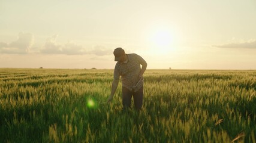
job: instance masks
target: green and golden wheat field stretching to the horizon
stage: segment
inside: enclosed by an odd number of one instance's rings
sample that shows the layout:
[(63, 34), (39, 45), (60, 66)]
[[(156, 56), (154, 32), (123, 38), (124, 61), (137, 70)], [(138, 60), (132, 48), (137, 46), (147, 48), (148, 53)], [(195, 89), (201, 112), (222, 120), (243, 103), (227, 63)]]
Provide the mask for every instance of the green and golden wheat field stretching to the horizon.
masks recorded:
[[(122, 111), (113, 70), (0, 69), (2, 142), (255, 142), (255, 70), (146, 70)], [(88, 105), (90, 104), (90, 105)]]

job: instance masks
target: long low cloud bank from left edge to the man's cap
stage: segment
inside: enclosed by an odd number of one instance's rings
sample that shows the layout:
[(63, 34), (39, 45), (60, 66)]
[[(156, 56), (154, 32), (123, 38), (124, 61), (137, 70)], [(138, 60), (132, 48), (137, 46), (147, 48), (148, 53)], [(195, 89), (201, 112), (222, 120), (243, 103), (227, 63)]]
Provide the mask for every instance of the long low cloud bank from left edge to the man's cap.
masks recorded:
[(11, 43), (0, 42), (0, 53), (5, 54), (64, 54), (64, 55), (85, 55), (93, 54), (97, 56), (110, 55), (112, 49), (104, 46), (95, 46), (92, 49), (86, 49), (82, 45), (74, 42), (60, 44), (57, 42), (58, 35), (46, 39), (42, 46), (34, 46), (34, 35), (31, 33), (19, 33), (16, 41)]

